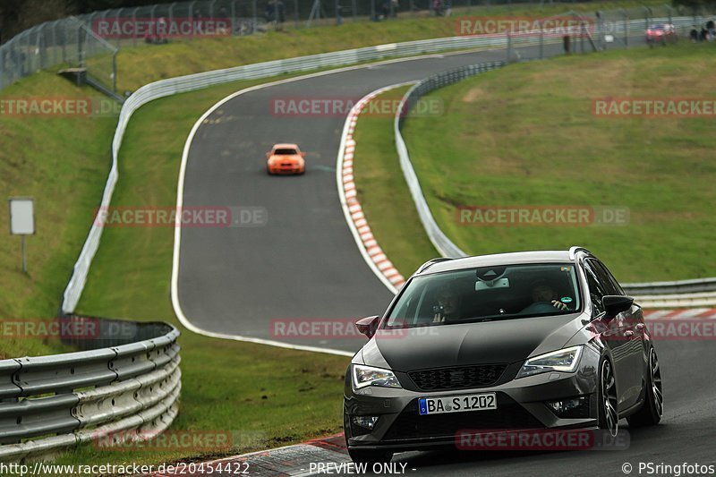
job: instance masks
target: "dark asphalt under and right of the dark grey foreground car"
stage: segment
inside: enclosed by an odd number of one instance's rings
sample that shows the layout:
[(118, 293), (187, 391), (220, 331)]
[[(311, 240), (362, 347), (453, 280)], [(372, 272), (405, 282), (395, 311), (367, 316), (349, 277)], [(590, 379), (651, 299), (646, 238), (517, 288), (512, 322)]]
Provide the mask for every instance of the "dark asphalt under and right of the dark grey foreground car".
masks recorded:
[[(661, 341), (655, 344), (664, 385), (664, 416), (658, 426), (631, 430), (625, 450), (563, 452), (424, 452), (405, 453), (404, 462), (418, 475), (678, 475), (675, 472), (639, 473), (639, 463), (716, 465), (716, 342)], [(653, 467), (656, 469), (656, 467)], [(703, 473), (702, 473), (703, 474)], [(681, 475), (687, 475), (681, 471)]]

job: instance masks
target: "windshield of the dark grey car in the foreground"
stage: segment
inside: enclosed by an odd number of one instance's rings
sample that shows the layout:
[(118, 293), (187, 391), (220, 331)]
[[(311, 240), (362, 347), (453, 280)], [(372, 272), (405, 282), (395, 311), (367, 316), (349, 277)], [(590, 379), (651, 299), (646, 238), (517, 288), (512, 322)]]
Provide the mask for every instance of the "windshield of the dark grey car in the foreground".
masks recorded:
[(413, 328), (574, 313), (581, 309), (571, 263), (468, 268), (414, 277), (385, 328)]

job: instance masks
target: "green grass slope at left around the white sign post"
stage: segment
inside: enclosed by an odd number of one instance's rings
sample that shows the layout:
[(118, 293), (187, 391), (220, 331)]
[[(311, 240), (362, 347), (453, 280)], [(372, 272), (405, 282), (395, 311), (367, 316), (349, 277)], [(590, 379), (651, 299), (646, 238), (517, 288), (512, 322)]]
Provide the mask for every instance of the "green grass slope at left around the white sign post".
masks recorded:
[[(10, 101), (99, 98), (47, 72), (0, 92), (0, 191), (35, 199), (36, 234), (27, 237), (28, 273), (19, 236), (11, 236), (7, 205), (0, 213), (0, 319), (50, 319), (80, 253), (109, 171), (116, 116), (11, 115)], [(81, 133), (80, 133), (81, 132)], [(0, 335), (0, 359), (67, 351), (54, 339)]]

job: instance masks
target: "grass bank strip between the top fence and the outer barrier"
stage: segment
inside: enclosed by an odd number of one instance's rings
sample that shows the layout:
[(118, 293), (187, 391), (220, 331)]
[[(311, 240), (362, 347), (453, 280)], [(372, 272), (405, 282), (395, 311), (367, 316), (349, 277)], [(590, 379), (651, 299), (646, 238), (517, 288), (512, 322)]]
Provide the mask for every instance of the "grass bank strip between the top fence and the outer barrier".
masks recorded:
[(589, 2), (555, 4), (542, 8), (527, 4), (508, 6), (475, 6), (468, 11), (456, 11), (451, 17), (415, 17), (403, 14), (397, 21), (346, 22), (337, 27), (284, 31), (268, 31), (248, 37), (201, 38), (192, 41), (172, 41), (166, 45), (142, 45), (120, 50), (117, 55), (117, 89), (134, 90), (150, 82), (193, 72), (229, 68), (294, 56), (327, 53), (348, 48), (366, 47), (426, 38), (453, 37), (458, 34), (456, 21), (461, 15), (470, 16), (550, 16), (567, 10), (593, 13), (597, 9), (654, 7), (663, 0), (623, 2)]

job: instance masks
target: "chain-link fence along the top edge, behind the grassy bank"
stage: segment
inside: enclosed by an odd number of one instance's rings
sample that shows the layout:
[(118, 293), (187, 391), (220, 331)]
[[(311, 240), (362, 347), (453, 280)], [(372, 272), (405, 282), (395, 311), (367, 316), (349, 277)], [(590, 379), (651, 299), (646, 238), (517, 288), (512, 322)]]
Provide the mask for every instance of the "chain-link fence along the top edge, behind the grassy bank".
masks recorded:
[[(455, 36), (506, 35), (507, 32), (478, 29), (490, 18), (510, 17), (512, 6), (559, 4), (552, 0), (193, 0), (167, 4), (106, 10), (49, 21), (25, 30), (0, 46), (0, 89), (32, 72), (50, 67), (75, 69), (107, 91), (116, 92), (116, 55), (123, 47), (206, 38), (243, 36), (268, 30), (340, 25), (350, 21), (396, 21), (418, 16), (450, 16)], [(490, 16), (488, 16), (490, 15)], [(570, 47), (579, 50), (604, 48), (609, 42), (628, 44), (628, 37), (656, 20), (677, 16), (693, 18), (680, 24), (680, 33), (703, 17), (692, 10), (669, 5), (628, 10), (567, 13), (542, 19), (532, 28), (509, 34), (512, 53), (518, 58), (521, 44), (558, 41), (557, 33), (544, 21), (572, 18)], [(468, 26), (465, 31), (463, 25)], [(484, 25), (482, 25), (484, 26)]]

